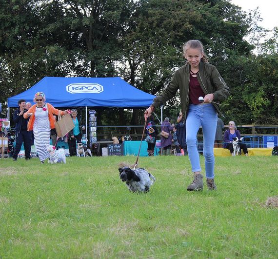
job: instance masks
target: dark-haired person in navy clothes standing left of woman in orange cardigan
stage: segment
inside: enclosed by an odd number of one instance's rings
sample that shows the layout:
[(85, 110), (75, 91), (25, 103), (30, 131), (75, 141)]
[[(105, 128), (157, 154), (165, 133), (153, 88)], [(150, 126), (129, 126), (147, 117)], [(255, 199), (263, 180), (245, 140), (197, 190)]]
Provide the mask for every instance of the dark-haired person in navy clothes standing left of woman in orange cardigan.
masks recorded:
[(18, 101), (19, 108), (14, 112), (14, 122), (16, 123), (16, 148), (13, 154), (13, 160), (18, 159), (18, 154), (20, 153), (20, 148), (23, 142), (25, 159), (31, 158), (31, 145), (32, 145), (32, 135), (30, 131), (27, 131), (28, 119), (23, 118), (23, 113), (26, 112), (25, 100)]

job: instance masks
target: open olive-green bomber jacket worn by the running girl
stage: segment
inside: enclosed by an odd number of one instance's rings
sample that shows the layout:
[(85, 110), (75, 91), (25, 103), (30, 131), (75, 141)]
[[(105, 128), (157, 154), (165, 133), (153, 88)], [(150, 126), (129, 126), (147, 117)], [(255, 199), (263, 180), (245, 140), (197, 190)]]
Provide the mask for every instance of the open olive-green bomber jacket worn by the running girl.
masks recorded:
[[(183, 118), (186, 117), (186, 112), (189, 107), (189, 80), (190, 80), (190, 65), (187, 62), (184, 66), (180, 67), (173, 76), (173, 79), (168, 83), (167, 87), (163, 90), (160, 96), (154, 99), (152, 105), (158, 108), (167, 100), (172, 99), (179, 90), (181, 112)], [(213, 94), (215, 102), (226, 100), (230, 95), (230, 89), (220, 76), (216, 67), (209, 63), (199, 63), (199, 73), (197, 74), (199, 84), (205, 95)], [(212, 103), (218, 114), (221, 114), (219, 105)], [(184, 120), (185, 121), (185, 120)]]

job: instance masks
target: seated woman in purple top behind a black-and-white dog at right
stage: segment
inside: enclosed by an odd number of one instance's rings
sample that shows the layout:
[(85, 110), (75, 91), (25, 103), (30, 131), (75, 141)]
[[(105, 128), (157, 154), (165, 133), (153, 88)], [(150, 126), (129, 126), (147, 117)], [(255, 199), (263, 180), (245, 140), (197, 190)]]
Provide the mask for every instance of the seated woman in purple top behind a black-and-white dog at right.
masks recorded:
[[(238, 137), (240, 139), (240, 132), (237, 129), (235, 121), (231, 120), (229, 121), (229, 129), (225, 131), (224, 133), (224, 144), (223, 148), (229, 149), (232, 156), (234, 155), (234, 147), (233, 147), (233, 139)], [(244, 143), (238, 143), (240, 149), (243, 150), (243, 153), (245, 156), (248, 156), (248, 150), (247, 146)]]

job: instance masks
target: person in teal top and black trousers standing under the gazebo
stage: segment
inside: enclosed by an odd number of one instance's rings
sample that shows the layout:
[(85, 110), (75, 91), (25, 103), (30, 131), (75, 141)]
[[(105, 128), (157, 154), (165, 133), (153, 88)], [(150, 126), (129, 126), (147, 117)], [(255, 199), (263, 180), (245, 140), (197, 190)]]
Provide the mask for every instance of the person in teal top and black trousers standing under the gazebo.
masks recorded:
[(84, 126), (81, 125), (81, 120), (77, 116), (77, 110), (71, 110), (71, 116), (74, 123), (74, 128), (68, 134), (68, 145), (69, 145), (69, 153), (70, 157), (76, 156), (76, 142), (81, 142), (82, 139), (82, 130), (85, 129)]

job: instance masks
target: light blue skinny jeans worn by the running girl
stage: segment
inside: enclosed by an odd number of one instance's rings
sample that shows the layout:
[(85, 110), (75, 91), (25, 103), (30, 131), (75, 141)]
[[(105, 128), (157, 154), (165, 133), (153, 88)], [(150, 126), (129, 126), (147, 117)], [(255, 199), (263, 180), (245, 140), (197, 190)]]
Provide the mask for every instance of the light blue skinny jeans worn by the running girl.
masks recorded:
[(214, 139), (217, 127), (217, 112), (211, 103), (190, 104), (186, 118), (186, 145), (192, 166), (192, 172), (201, 171), (200, 158), (197, 150), (197, 133), (203, 130), (203, 156), (205, 158), (206, 178), (214, 178)]

